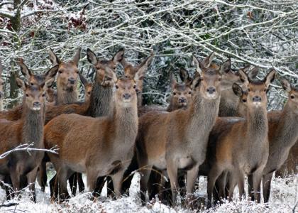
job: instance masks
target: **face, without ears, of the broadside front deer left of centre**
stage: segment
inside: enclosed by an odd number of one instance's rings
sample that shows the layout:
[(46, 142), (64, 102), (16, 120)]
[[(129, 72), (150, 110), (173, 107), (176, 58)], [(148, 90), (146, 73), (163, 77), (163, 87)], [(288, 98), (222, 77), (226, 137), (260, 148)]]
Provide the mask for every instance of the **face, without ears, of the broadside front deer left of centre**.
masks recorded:
[(128, 77), (121, 77), (115, 84), (116, 102), (123, 107), (130, 107), (136, 100), (136, 82)]

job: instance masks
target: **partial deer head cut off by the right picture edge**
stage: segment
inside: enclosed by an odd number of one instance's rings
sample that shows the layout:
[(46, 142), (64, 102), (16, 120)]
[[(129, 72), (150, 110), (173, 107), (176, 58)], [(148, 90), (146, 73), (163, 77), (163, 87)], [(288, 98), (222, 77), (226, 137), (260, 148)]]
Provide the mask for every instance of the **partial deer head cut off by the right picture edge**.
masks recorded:
[(298, 114), (298, 89), (293, 87), (289, 81), (283, 79), (282, 87), (285, 91), (288, 92), (287, 105), (291, 111), (294, 111), (295, 114)]

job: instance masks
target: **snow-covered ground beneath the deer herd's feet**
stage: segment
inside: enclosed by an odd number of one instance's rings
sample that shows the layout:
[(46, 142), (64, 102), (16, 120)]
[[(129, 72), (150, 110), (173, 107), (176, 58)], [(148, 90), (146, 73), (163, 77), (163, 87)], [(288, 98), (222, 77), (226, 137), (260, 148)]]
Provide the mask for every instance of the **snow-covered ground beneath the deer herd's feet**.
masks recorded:
[[(37, 202), (31, 202), (28, 198), (28, 192), (24, 192), (20, 200), (12, 200), (18, 203), (11, 207), (0, 207), (0, 212), (191, 212), (181, 206), (175, 209), (161, 204), (159, 201), (148, 204), (143, 207), (138, 199), (140, 175), (136, 173), (129, 190), (129, 197), (122, 197), (119, 200), (98, 199), (92, 201), (89, 199), (90, 193), (85, 192), (72, 197), (69, 202), (57, 204), (50, 202), (50, 192), (47, 187), (46, 192), (40, 191), (37, 185)], [(293, 175), (287, 179), (275, 178), (272, 181), (272, 196), (269, 204), (256, 204), (249, 200), (235, 200), (225, 202), (214, 209), (192, 210), (193, 212), (293, 212), (294, 204), (298, 199), (298, 175)], [(104, 195), (103, 192), (102, 195)], [(237, 194), (237, 193), (236, 193)], [(200, 201), (206, 200), (206, 178), (200, 178), (199, 188), (195, 196)], [(4, 190), (0, 191), (0, 204), (7, 204)], [(298, 212), (298, 210), (296, 210)]]

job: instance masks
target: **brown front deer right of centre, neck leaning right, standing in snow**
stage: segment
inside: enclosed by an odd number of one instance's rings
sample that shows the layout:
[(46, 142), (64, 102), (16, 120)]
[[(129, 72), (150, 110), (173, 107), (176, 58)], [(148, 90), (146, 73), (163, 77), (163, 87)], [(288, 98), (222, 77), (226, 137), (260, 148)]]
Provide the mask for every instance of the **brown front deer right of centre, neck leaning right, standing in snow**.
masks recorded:
[[(199, 165), (203, 163), (209, 131), (219, 111), (221, 95), (219, 70), (206, 68), (209, 62), (193, 57), (197, 77), (189, 108), (170, 113), (149, 112), (139, 120), (136, 141), (138, 165), (142, 168), (140, 180), (142, 200), (145, 201), (150, 170), (167, 170), (170, 177), (173, 204), (176, 202), (177, 170), (187, 170), (187, 194), (194, 190)], [(208, 60), (207, 60), (208, 61)]]

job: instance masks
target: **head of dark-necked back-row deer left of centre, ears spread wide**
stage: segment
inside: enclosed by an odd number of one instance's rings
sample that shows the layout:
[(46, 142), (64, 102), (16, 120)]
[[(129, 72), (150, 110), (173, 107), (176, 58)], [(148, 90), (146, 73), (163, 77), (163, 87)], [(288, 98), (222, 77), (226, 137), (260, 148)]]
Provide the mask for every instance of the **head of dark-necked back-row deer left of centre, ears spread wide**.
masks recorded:
[(87, 49), (87, 59), (96, 69), (96, 81), (103, 87), (112, 87), (116, 82), (116, 66), (122, 60), (124, 50), (119, 50), (111, 60), (98, 60), (95, 53)]

